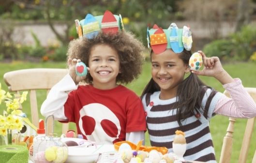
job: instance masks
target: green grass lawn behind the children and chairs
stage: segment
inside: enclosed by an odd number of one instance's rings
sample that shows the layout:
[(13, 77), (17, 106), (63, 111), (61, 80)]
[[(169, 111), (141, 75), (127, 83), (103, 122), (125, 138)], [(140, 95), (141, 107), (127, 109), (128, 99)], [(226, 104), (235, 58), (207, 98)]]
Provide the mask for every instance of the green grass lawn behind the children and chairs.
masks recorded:
[[(224, 68), (232, 77), (239, 77), (242, 80), (244, 87), (256, 87), (256, 64), (255, 63), (232, 63), (225, 64)], [(30, 63), (30, 62), (12, 62), (12, 63), (0, 63), (0, 76), (3, 76), (4, 73), (19, 69), (28, 69), (28, 68), (66, 68), (66, 64), (64, 62), (39, 62), (39, 63)], [(127, 85), (128, 88), (134, 90), (137, 95), (140, 95), (143, 88), (146, 86), (147, 82), (151, 78), (150, 70), (151, 66), (149, 62), (146, 62), (143, 66), (143, 73), (136, 79), (134, 82)], [(25, 76), (24, 76), (25, 77)], [(223, 92), (224, 89), (222, 85), (212, 77), (200, 76), (200, 78), (209, 86), (214, 89)], [(0, 77), (0, 83), (2, 84), (2, 89), (7, 90), (7, 86), (5, 85), (3, 78)], [(43, 91), (38, 92), (38, 106), (40, 108), (41, 104), (45, 100), (46, 93)], [(2, 108), (0, 108), (2, 109)], [(23, 104), (24, 112), (30, 118), (30, 103), (29, 100)], [(0, 113), (2, 110), (0, 110)], [(40, 118), (43, 118), (42, 116)], [(239, 152), (241, 148), (241, 141), (243, 137), (244, 127), (246, 125), (246, 119), (237, 119), (235, 123), (235, 131), (234, 131), (234, 142), (233, 142), (233, 151), (232, 151), (232, 160), (231, 163), (238, 162)], [(210, 130), (213, 139), (214, 148), (216, 151), (216, 159), (219, 160), (220, 151), (222, 148), (223, 137), (226, 134), (226, 128), (228, 126), (228, 118), (224, 116), (215, 116), (211, 119), (210, 122)], [(72, 124), (71, 129), (75, 130), (75, 125)], [(61, 128), (60, 123), (57, 122), (55, 125), (55, 132), (60, 135)], [(254, 133), (252, 136), (252, 144), (250, 147), (248, 161), (247, 163), (252, 162), (252, 158), (256, 149), (255, 143), (256, 137), (256, 127), (254, 128)], [(150, 145), (148, 134), (146, 134), (146, 145)]]

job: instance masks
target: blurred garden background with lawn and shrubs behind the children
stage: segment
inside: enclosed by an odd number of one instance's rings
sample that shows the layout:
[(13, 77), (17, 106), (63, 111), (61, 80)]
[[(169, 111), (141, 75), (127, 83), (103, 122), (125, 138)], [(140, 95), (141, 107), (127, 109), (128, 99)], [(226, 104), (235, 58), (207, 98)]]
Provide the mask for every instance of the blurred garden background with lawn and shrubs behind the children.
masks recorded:
[[(256, 0), (0, 0), (2, 89), (7, 90), (2, 76), (8, 71), (66, 68), (67, 44), (77, 38), (74, 20), (81, 20), (88, 13), (102, 15), (106, 9), (121, 14), (125, 30), (134, 32), (145, 46), (147, 26), (156, 23), (167, 28), (171, 22), (176, 22), (179, 28), (190, 26), (192, 52), (203, 50), (209, 57), (218, 56), (226, 71), (241, 78), (244, 87), (256, 87)], [(143, 73), (127, 85), (138, 95), (151, 74), (148, 49), (144, 57)], [(214, 89), (224, 91), (214, 78), (200, 78)], [(38, 93), (38, 106), (45, 100), (45, 94)], [(29, 105), (28, 100), (23, 108), (30, 118)], [(231, 163), (237, 163), (245, 124), (245, 119), (235, 123)], [(228, 118), (219, 115), (210, 123), (217, 160), (227, 125)], [(58, 123), (55, 131), (60, 135)], [(255, 137), (256, 127), (247, 163), (252, 161), (256, 149)], [(146, 143), (150, 145), (148, 137)]]

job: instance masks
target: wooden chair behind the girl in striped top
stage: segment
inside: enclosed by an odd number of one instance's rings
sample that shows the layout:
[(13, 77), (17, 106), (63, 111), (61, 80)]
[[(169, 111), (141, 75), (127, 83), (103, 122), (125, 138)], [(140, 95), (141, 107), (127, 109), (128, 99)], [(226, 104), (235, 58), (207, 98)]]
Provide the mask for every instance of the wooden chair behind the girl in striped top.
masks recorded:
[[(252, 96), (252, 98), (256, 102), (256, 88), (245, 88), (245, 89), (247, 90), (247, 92)], [(224, 91), (224, 94), (227, 97), (230, 97), (226, 91)], [(244, 131), (244, 136), (243, 136), (243, 140), (242, 140), (242, 144), (241, 144), (241, 150), (240, 150), (240, 156), (239, 156), (238, 163), (246, 163), (255, 120), (256, 120), (256, 117), (247, 120), (246, 128)], [(223, 145), (222, 145), (219, 163), (230, 163), (235, 122), (236, 122), (236, 119), (229, 118), (229, 125), (226, 130), (226, 132), (227, 132), (226, 136), (223, 139)], [(255, 139), (252, 143), (255, 143)], [(256, 163), (256, 151), (255, 151), (252, 163)]]

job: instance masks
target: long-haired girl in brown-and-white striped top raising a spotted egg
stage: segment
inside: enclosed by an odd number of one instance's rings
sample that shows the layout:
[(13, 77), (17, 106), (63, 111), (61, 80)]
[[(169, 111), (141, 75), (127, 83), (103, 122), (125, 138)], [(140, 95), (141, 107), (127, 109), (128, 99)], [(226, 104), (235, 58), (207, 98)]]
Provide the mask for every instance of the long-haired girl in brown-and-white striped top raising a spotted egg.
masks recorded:
[[(198, 51), (202, 55), (204, 68), (202, 71), (190, 71), (191, 51), (182, 49), (180, 53), (175, 53), (168, 46), (162, 50), (152, 44), (151, 47), (152, 78), (141, 96), (147, 112), (151, 146), (166, 147), (172, 152), (175, 131), (181, 130), (187, 143), (183, 156), (185, 160), (216, 163), (210, 119), (215, 114), (235, 118), (255, 117), (255, 102), (243, 88), (241, 80), (233, 79), (223, 69), (218, 57), (207, 58), (202, 51)], [(184, 79), (186, 73), (190, 74)], [(197, 75), (215, 77), (232, 99), (204, 85)]]

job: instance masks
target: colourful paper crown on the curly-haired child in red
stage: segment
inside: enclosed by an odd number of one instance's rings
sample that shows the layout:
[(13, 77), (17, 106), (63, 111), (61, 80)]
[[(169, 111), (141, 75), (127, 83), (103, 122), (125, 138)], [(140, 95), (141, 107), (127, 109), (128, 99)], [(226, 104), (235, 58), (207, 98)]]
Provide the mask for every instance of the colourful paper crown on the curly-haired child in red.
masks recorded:
[(76, 32), (79, 38), (94, 38), (100, 30), (104, 33), (117, 33), (123, 30), (123, 23), (121, 15), (113, 15), (106, 10), (104, 15), (93, 16), (87, 14), (83, 20), (75, 20)]

